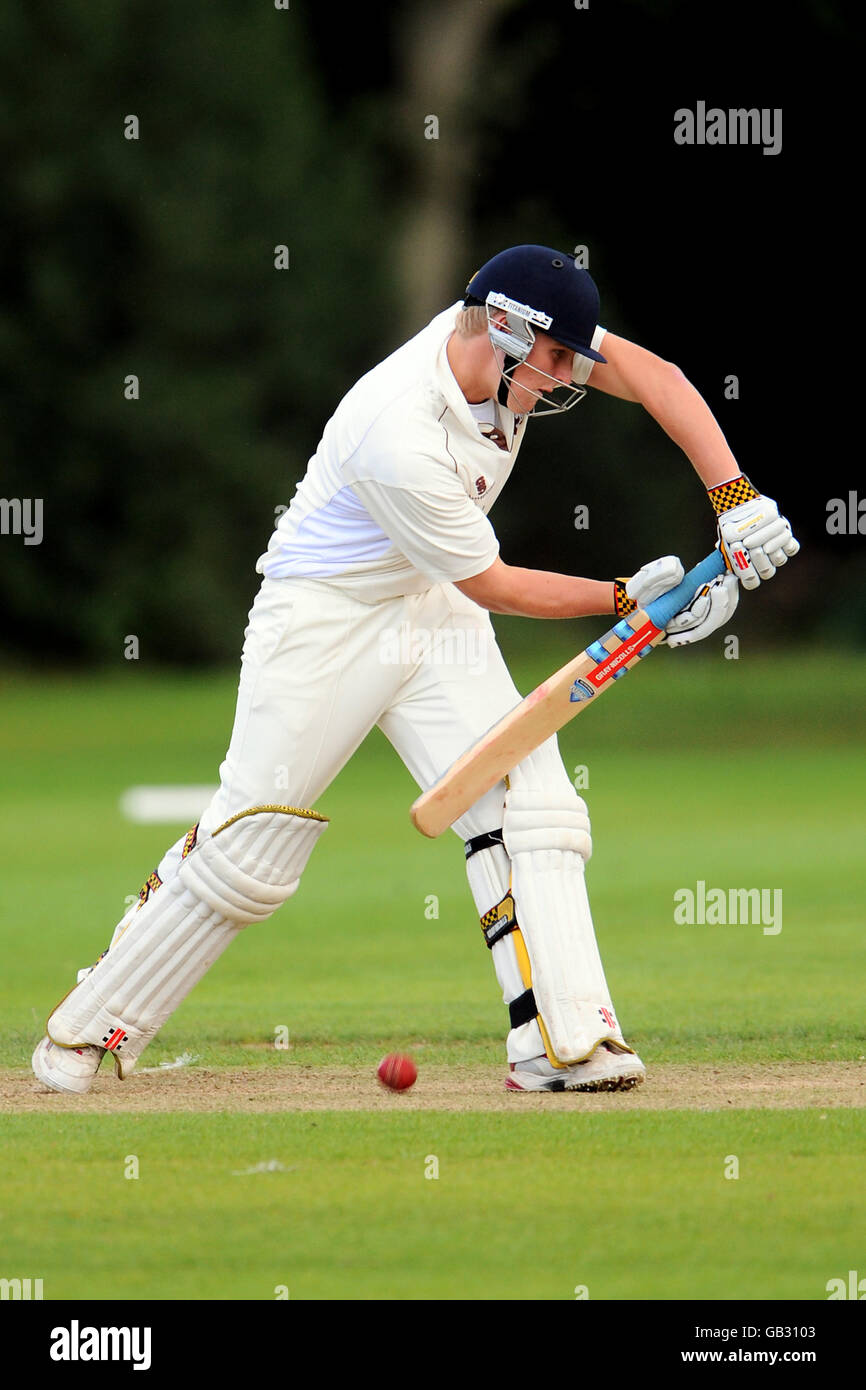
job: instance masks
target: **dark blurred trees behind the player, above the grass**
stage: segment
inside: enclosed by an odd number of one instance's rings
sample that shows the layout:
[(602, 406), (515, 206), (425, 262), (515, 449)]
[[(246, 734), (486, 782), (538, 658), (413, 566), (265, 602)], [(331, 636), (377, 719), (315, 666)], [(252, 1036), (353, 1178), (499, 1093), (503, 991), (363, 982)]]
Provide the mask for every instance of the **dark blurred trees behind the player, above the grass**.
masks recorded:
[[(524, 240), (588, 247), (602, 322), (680, 364), (791, 516), (802, 556), (737, 630), (866, 642), (863, 537), (826, 527), (866, 493), (853, 366), (822, 361), (853, 288), (851, 36), (824, 0), (6, 7), (0, 495), (42, 498), (44, 538), (0, 537), (0, 652), (235, 662), (341, 395)], [(781, 107), (783, 153), (676, 146), (698, 100)], [(592, 392), (532, 425), (492, 520), (506, 560), (598, 577), (714, 535), (676, 446)]]

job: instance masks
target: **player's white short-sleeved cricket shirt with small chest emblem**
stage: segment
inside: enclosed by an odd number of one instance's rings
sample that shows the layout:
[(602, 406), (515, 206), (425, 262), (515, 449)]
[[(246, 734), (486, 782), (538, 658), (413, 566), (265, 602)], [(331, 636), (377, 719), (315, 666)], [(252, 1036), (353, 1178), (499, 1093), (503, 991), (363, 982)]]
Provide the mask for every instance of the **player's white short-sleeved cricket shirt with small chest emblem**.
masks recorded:
[[(499, 542), (487, 513), (527, 417), (466, 400), (445, 350), (460, 309), (438, 314), (343, 396), (259, 557), (260, 574), (324, 580), (375, 603), (489, 569)], [(596, 329), (592, 345), (602, 336)], [(574, 363), (582, 384), (592, 361)], [(505, 449), (482, 434), (493, 420)]]

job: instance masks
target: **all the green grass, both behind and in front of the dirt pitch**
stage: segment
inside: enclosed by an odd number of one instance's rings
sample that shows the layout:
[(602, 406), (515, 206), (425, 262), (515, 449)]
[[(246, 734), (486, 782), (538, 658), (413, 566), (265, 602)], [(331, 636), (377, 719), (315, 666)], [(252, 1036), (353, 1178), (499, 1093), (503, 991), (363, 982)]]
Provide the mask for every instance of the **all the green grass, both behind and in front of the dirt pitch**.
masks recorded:
[[(514, 663), (523, 688), (570, 655), (556, 628)], [(0, 1068), (24, 1076), (44, 1015), (185, 828), (125, 823), (121, 792), (213, 781), (236, 682), (124, 662), (1, 684)], [(866, 1055), (865, 709), (862, 657), (662, 652), (560, 735), (592, 815), (609, 983), (651, 1080)], [(317, 1066), (363, 1072), (400, 1047), (421, 1066), (487, 1065), (499, 1086), (505, 1009), (461, 849), (411, 830), (413, 796), (373, 735), (318, 803), (332, 823), (297, 897), (222, 956), (142, 1066), (193, 1052), (309, 1066), (314, 1084)], [(674, 894), (699, 881), (780, 890), (781, 930), (677, 923)], [(131, 1298), (820, 1300), (866, 1275), (865, 1115), (831, 1099), (100, 1118), (51, 1115), (47, 1097), (3, 1118), (0, 1277), (117, 1297), (117, 1236)]]

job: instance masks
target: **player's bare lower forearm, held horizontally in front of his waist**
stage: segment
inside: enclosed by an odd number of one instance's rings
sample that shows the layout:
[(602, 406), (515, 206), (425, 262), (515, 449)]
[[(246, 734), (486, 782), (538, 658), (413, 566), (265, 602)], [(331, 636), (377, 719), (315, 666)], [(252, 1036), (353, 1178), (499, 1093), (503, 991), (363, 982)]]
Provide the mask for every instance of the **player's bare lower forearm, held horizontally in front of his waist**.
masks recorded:
[(491, 613), (512, 617), (589, 617), (614, 612), (610, 580), (524, 570), (502, 560), (457, 588)]

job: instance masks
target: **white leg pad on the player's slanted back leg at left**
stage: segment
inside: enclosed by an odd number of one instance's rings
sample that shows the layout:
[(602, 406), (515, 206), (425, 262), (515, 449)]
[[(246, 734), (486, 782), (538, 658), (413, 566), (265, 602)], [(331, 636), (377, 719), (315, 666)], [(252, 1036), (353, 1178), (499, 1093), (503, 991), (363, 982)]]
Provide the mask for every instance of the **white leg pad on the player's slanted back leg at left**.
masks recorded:
[(327, 826), (314, 812), (263, 806), (204, 837), (60, 1002), (47, 1024), (51, 1041), (103, 1047), (128, 1076), (238, 933), (296, 891)]

